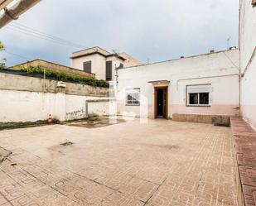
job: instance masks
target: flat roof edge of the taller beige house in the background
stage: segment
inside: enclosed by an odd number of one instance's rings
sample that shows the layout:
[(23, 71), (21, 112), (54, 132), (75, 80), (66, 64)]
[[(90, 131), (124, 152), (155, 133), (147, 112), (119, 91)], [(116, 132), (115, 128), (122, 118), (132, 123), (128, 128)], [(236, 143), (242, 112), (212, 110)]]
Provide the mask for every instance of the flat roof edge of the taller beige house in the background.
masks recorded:
[[(109, 57), (109, 56), (114, 56), (116, 54), (114, 53), (110, 53), (107, 50), (104, 50), (102, 48), (100, 48), (99, 46), (94, 46), (85, 50), (78, 50), (72, 53), (72, 56), (70, 57), (71, 59), (76, 59), (76, 58), (80, 58), (86, 55), (94, 55), (94, 54), (99, 54), (99, 55), (103, 55), (104, 57)], [(126, 60), (123, 56), (121, 55), (117, 55), (118, 58), (122, 59), (122, 60)]]

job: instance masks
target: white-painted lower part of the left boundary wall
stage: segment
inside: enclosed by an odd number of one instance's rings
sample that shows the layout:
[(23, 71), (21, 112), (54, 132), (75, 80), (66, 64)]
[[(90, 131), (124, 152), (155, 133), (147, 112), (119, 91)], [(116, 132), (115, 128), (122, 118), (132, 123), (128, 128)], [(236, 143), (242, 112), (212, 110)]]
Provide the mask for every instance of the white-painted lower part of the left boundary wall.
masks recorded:
[[(2, 89), (0, 96), (0, 122), (36, 122), (46, 120), (49, 114), (60, 121), (80, 119), (85, 117), (85, 100), (105, 99)], [(109, 115), (109, 102), (89, 103), (89, 114)]]

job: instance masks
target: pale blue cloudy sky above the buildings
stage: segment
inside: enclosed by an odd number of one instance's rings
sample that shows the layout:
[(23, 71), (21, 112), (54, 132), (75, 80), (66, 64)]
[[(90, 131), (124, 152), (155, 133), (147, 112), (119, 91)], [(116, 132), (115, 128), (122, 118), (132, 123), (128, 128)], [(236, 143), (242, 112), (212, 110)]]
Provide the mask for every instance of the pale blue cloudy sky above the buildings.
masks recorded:
[(199, 55), (225, 50), (229, 37), (238, 46), (238, 11), (239, 0), (42, 0), (1, 29), (8, 52), (1, 55), (7, 65), (36, 58), (70, 65), (72, 51), (91, 46), (143, 62)]

